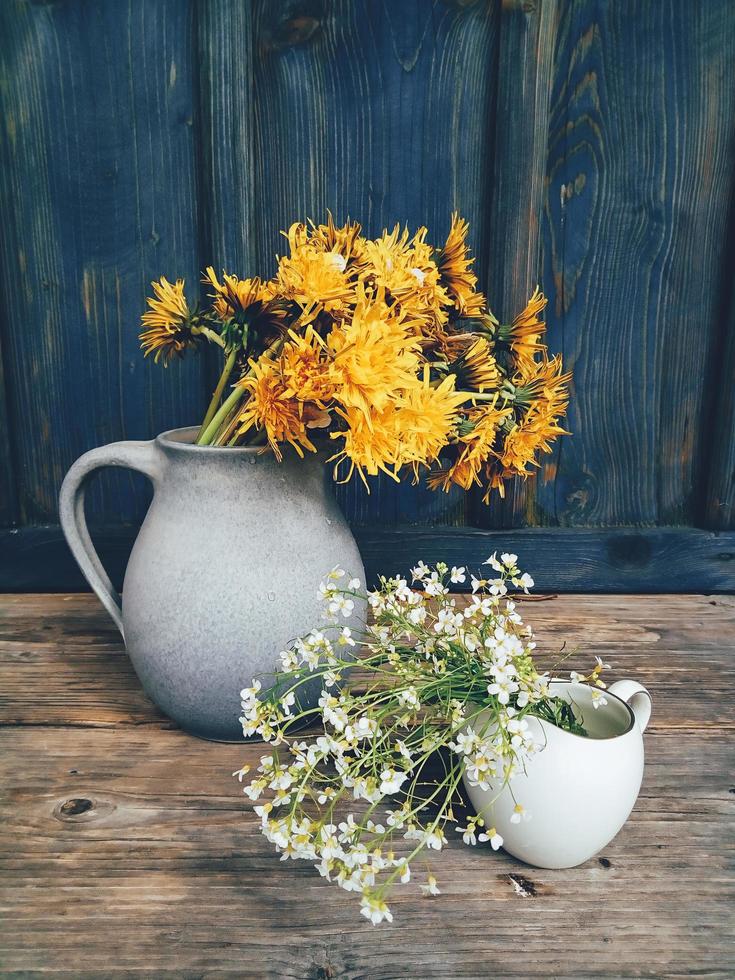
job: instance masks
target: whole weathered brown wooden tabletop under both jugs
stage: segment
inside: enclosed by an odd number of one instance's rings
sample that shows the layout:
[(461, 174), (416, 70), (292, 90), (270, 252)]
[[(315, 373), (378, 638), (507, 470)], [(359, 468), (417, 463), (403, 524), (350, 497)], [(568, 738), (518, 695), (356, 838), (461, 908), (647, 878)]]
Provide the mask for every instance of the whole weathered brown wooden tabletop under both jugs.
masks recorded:
[(0, 596), (0, 971), (69, 977), (732, 977), (735, 597), (565, 596), (539, 647), (653, 696), (640, 799), (597, 858), (527, 867), (459, 840), (392, 925), (281, 862), (231, 773), (262, 745), (187, 736), (86, 595)]

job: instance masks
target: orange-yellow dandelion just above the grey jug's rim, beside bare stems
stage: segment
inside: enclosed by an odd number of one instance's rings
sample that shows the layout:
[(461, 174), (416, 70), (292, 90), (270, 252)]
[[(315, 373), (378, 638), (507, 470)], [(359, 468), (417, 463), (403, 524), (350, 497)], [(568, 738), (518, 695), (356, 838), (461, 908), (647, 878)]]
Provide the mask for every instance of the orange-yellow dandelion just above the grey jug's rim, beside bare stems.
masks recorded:
[(316, 452), (306, 430), (302, 403), (287, 393), (277, 364), (265, 357), (250, 361), (250, 372), (238, 381), (238, 386), (248, 393), (248, 400), (238, 417), (237, 434), (244, 435), (251, 428), (264, 429), (276, 459), (283, 454), (279, 443), (290, 443), (299, 456), (303, 449)]

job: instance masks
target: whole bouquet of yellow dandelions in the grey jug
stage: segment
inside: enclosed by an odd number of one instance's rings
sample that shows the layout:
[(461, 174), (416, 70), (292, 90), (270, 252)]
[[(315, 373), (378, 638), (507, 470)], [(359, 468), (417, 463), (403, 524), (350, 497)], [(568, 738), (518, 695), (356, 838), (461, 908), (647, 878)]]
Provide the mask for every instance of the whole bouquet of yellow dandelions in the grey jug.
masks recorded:
[(564, 432), (569, 375), (542, 343), (537, 290), (501, 323), (476, 288), (467, 223), (454, 215), (442, 248), (396, 226), (293, 224), (273, 279), (208, 268), (208, 302), (162, 278), (143, 315), (146, 354), (164, 364), (205, 344), (224, 365), (197, 443), (263, 446), (282, 458), (321, 439), (335, 477), (355, 471), (429, 486), (503, 493)]

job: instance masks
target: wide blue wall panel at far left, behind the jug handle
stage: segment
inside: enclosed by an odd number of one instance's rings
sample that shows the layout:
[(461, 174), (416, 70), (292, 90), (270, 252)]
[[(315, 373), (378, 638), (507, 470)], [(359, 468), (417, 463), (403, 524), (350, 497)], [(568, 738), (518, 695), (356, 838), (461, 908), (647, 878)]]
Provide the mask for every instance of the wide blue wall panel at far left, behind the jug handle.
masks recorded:
[[(0, 5), (6, 369), (24, 522), (53, 521), (76, 456), (192, 422), (202, 366), (144, 363), (148, 283), (197, 290), (190, 5)], [(140, 516), (120, 477), (93, 517)]]

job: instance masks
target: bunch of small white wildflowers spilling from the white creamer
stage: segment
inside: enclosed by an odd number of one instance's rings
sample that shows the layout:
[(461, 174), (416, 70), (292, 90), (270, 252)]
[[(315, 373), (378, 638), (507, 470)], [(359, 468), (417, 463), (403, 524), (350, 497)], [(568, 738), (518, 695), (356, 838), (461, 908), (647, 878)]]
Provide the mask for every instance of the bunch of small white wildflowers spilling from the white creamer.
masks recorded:
[[(411, 584), (381, 578), (367, 592), (333, 569), (319, 589), (325, 625), (281, 653), (283, 669), (267, 690), (256, 680), (241, 692), (243, 733), (270, 745), (249, 782), (247, 767), (234, 774), (263, 834), (281, 860), (310, 861), (359, 893), (360, 912), (374, 925), (392, 921), (391, 889), (412, 880), (419, 855), (446, 846), (452, 825), (469, 846), (502, 846), (502, 828), (478, 816), (458, 819), (453, 806), (463, 775), (499, 793), (522, 771), (537, 750), (526, 716), (584, 732), (537, 671), (533, 634), (509, 595), (527, 592), (532, 579), (516, 555), (485, 564), (493, 577), (470, 575), (469, 601), (450, 593), (467, 581), (465, 567), (419, 562)], [(358, 629), (355, 612), (365, 601), (372, 622)], [(341, 687), (355, 658), (361, 683)], [(590, 674), (573, 674), (590, 685), (595, 706), (604, 703), (606, 667), (598, 658)], [(300, 689), (315, 679), (318, 703), (303, 708)], [(308, 723), (320, 731), (299, 736)], [(450, 754), (437, 774), (440, 749)], [(517, 801), (511, 822), (530, 818)], [(439, 894), (433, 874), (419, 888)]]

